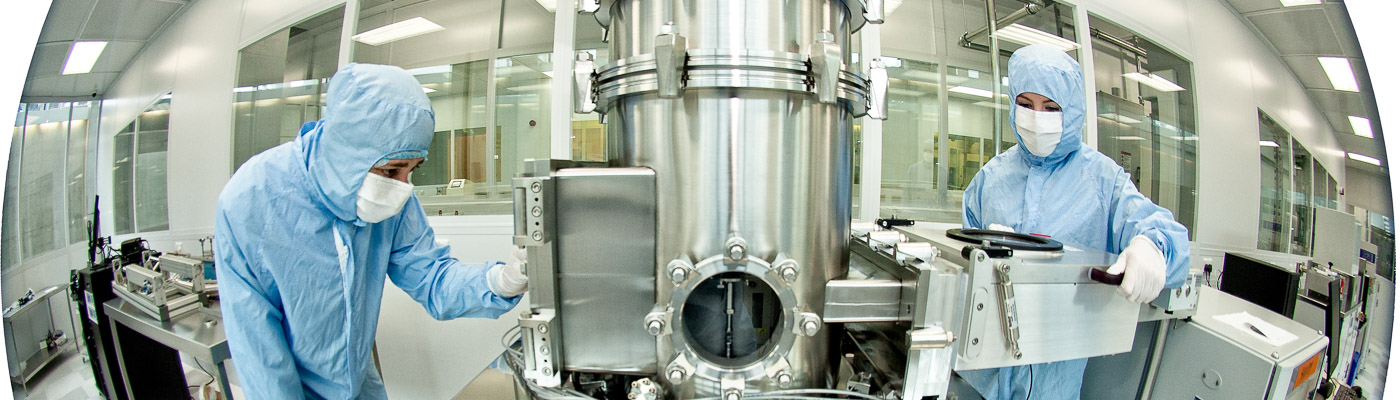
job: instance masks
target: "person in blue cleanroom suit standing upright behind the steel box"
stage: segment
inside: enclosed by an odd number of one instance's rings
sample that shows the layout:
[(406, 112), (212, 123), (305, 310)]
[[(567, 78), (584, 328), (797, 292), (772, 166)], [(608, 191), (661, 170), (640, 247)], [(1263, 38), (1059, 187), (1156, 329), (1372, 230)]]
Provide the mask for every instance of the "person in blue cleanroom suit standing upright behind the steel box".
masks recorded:
[[(1011, 56), (1011, 126), (1018, 145), (998, 154), (963, 193), (963, 227), (1049, 235), (1119, 253), (1119, 294), (1149, 302), (1187, 273), (1186, 227), (1142, 197), (1113, 159), (1081, 141), (1084, 73), (1064, 52), (1025, 46)], [(963, 371), (987, 399), (1079, 399), (1084, 366), (1074, 359)]]

